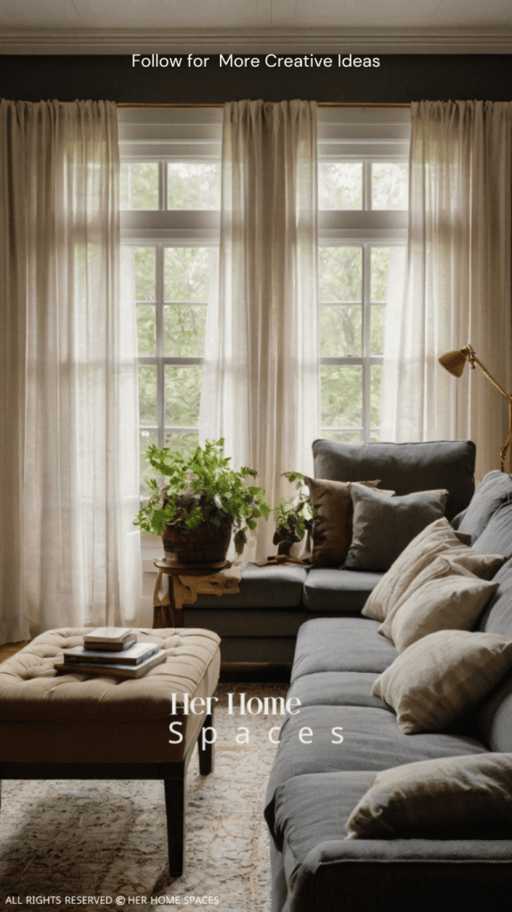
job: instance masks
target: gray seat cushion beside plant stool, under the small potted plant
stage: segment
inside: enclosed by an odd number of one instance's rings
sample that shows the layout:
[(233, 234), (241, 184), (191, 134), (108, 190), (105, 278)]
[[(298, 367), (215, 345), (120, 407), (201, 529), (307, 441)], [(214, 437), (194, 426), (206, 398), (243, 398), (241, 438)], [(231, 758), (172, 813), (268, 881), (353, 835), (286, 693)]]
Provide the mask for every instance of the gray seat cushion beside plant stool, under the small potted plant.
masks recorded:
[(198, 596), (190, 608), (297, 608), (308, 572), (300, 565), (242, 565), (238, 592), (224, 596)]

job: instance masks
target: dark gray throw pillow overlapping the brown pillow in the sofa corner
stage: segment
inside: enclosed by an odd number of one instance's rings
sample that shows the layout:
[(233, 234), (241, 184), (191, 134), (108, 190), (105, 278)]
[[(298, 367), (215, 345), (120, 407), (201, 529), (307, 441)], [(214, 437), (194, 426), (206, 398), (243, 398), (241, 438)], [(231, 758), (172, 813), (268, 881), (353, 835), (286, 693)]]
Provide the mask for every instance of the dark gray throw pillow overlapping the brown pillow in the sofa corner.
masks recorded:
[(344, 568), (389, 570), (415, 536), (445, 513), (448, 492), (419, 491), (403, 497), (352, 484), (353, 537)]

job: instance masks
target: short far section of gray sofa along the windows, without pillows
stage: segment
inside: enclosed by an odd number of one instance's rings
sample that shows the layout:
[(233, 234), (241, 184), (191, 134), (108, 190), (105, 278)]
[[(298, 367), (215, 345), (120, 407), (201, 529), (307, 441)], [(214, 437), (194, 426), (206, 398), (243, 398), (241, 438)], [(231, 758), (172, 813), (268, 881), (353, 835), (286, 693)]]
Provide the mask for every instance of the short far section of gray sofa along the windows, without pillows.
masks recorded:
[[(315, 440), (314, 475), (358, 482), (380, 479), (397, 495), (436, 488), (449, 491), (445, 515), (464, 510), (475, 490), (475, 445), (470, 440), (426, 443), (370, 443), (363, 446)], [(205, 627), (221, 637), (223, 665), (292, 665), (302, 624), (315, 617), (357, 614), (380, 573), (300, 565), (244, 565), (240, 591), (198, 597), (183, 606), (185, 627)]]

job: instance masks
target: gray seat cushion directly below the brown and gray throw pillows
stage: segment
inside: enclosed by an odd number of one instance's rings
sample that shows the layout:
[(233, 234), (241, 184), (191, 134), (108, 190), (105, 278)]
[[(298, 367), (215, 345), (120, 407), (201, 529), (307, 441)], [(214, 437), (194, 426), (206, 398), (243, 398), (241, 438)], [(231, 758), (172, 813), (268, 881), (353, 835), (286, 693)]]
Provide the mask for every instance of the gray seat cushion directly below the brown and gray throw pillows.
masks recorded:
[(304, 583), (304, 605), (309, 611), (359, 614), (382, 576), (365, 570), (314, 568)]

